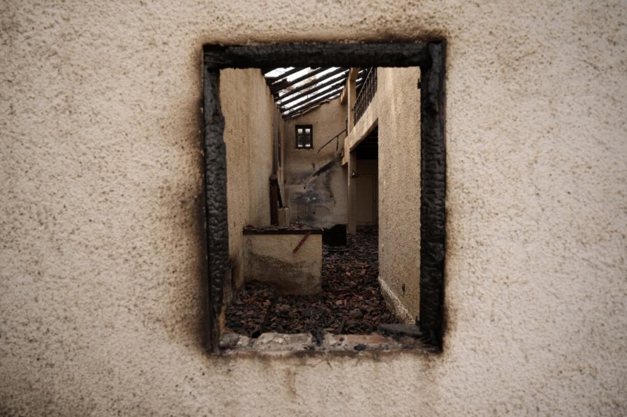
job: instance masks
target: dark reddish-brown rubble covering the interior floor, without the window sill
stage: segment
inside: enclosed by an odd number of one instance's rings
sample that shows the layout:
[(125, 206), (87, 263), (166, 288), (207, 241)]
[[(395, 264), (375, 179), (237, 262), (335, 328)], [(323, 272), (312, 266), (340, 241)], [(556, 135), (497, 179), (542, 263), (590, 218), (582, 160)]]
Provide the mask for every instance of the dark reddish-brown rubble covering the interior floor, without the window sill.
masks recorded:
[(367, 334), (394, 322), (377, 282), (377, 238), (376, 228), (364, 227), (348, 236), (345, 247), (324, 245), (322, 292), (315, 296), (279, 296), (270, 284), (246, 283), (226, 311), (226, 326), (258, 337), (263, 332)]

